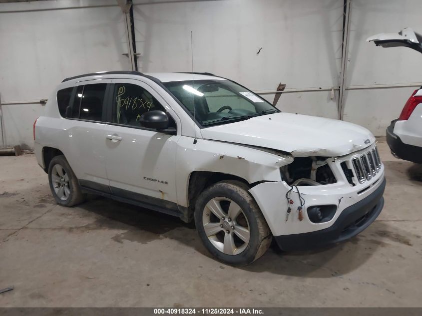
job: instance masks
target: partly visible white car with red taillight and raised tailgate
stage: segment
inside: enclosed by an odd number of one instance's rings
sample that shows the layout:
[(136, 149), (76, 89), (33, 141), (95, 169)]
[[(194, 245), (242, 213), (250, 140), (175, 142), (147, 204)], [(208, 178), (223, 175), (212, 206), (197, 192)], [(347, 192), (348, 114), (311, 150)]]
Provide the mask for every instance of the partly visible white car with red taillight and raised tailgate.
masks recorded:
[[(399, 33), (381, 33), (368, 37), (382, 47), (409, 47), (422, 53), (422, 35), (412, 28)], [(416, 89), (406, 102), (398, 119), (387, 127), (387, 143), (394, 156), (422, 163), (422, 87)]]

